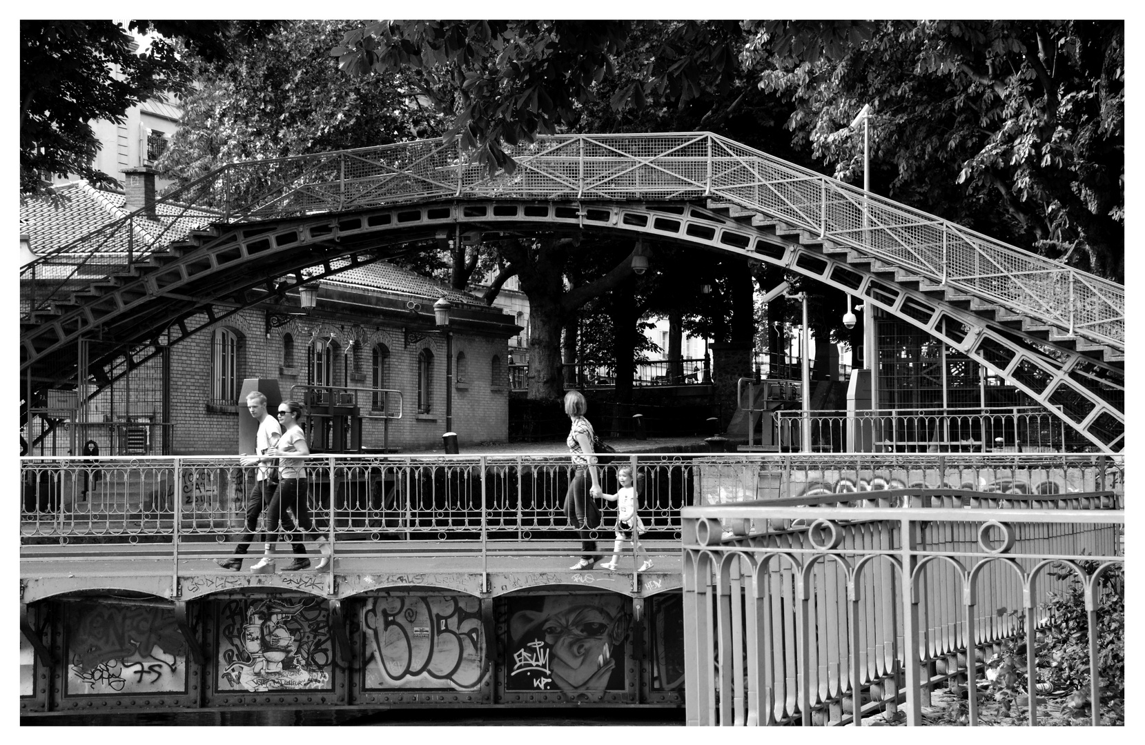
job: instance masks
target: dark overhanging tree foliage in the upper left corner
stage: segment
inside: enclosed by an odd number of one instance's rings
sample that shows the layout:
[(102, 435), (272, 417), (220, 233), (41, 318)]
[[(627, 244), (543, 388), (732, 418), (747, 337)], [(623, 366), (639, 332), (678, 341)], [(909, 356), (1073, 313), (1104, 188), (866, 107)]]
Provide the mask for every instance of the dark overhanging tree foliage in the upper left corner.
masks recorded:
[[(45, 176), (78, 176), (97, 187), (116, 179), (93, 167), (100, 143), (90, 121), (125, 121), (148, 98), (179, 94), (191, 69), (176, 54), (182, 40), (219, 58), (223, 46), (250, 39), (274, 22), (21, 21), (19, 191), (46, 193)], [(142, 54), (129, 31), (160, 34)]]

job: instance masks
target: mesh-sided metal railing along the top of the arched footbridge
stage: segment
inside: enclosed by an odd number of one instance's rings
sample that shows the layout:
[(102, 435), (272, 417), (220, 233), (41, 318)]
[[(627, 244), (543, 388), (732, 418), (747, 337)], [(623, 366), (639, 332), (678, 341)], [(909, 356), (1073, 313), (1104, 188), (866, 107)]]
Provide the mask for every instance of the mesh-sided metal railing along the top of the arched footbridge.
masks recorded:
[[(110, 275), (195, 228), (448, 198), (726, 199), (1071, 335), (1124, 349), (1124, 287), (711, 133), (552, 135), (488, 176), (441, 140), (236, 163), (26, 264), (42, 308), (68, 279)], [(90, 264), (90, 267), (89, 267)]]

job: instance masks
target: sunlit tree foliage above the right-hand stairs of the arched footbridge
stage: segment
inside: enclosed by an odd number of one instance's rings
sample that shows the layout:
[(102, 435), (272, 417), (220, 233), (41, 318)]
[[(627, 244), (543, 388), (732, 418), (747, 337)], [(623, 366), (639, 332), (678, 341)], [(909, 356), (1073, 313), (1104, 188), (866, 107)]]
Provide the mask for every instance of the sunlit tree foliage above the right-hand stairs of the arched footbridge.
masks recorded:
[(742, 62), (788, 97), (797, 143), (853, 181), (872, 105), (872, 188), (1019, 246), (1121, 280), (1121, 22), (886, 22), (829, 54), (759, 24)]

